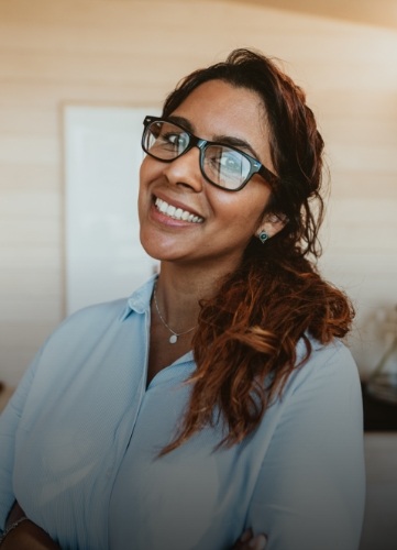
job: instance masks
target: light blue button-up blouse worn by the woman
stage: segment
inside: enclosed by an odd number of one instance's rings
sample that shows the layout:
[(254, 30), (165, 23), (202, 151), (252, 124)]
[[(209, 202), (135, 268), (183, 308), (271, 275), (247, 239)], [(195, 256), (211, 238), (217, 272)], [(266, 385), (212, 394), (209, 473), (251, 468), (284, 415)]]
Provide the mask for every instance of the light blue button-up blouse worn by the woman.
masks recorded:
[[(364, 507), (357, 370), (313, 353), (243, 443), (206, 428), (157, 458), (186, 407), (191, 353), (145, 389), (153, 278), (49, 337), (0, 417), (0, 526), (16, 498), (64, 550), (355, 550)], [(304, 352), (304, 346), (299, 353)]]

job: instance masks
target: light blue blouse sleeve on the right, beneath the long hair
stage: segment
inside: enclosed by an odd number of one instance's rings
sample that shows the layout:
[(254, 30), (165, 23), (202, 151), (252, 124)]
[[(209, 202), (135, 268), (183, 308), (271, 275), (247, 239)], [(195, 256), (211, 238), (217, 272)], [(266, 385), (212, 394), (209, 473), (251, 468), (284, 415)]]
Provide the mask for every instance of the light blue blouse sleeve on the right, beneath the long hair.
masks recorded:
[(363, 413), (356, 365), (341, 345), (301, 369), (285, 396), (247, 525), (266, 550), (355, 550), (365, 502)]

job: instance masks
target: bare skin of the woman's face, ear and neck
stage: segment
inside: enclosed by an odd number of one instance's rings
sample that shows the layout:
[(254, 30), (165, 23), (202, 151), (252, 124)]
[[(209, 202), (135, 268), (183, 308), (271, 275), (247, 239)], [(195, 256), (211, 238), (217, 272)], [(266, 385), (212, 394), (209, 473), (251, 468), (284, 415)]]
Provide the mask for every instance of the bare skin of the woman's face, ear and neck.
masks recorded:
[[(239, 140), (239, 147), (274, 170), (266, 112), (260, 96), (222, 80), (196, 88), (172, 113), (195, 135), (223, 143)], [(199, 300), (211, 296), (220, 277), (239, 265), (254, 234), (264, 229), (273, 237), (283, 222), (265, 215), (271, 187), (258, 175), (238, 193), (210, 185), (201, 175), (199, 150), (172, 163), (146, 156), (141, 166), (139, 217), (141, 242), (161, 261), (156, 295), (162, 316), (175, 332), (197, 322)], [(199, 217), (199, 223), (175, 220), (159, 212), (159, 198)], [(152, 307), (148, 382), (190, 349), (190, 334), (169, 346), (169, 331)]]

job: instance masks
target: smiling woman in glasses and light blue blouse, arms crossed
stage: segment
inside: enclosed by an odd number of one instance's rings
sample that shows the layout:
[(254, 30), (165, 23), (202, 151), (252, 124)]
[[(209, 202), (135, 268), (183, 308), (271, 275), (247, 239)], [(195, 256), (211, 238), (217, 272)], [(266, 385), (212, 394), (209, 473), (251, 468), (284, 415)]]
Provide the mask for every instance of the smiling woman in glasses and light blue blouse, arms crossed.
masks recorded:
[(66, 319), (25, 374), (0, 510), (29, 520), (3, 548), (37, 529), (40, 548), (356, 549), (353, 310), (313, 263), (323, 142), (304, 91), (238, 50), (186, 77), (142, 145), (159, 275)]

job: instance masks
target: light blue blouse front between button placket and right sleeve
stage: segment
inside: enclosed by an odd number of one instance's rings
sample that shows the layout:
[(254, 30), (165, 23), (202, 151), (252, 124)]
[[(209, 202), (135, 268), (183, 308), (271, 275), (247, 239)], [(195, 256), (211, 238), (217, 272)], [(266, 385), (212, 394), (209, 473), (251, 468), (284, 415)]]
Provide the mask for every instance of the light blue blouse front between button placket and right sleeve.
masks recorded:
[(212, 427), (159, 458), (187, 404), (186, 385), (159, 391), (165, 374), (146, 392), (150, 398), (115, 479), (111, 547), (123, 548), (129, 540), (136, 549), (229, 548), (244, 527), (257, 475), (256, 455), (239, 447), (214, 451), (221, 428)]

